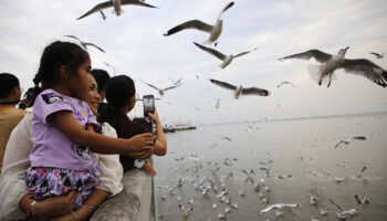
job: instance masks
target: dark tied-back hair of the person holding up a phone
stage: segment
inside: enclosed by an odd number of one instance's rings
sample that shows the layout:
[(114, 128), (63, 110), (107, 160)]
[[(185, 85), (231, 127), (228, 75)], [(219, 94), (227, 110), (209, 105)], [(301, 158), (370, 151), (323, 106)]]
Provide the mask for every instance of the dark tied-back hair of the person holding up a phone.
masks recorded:
[(128, 99), (135, 96), (136, 88), (133, 80), (125, 75), (114, 76), (106, 84), (107, 105), (98, 116), (100, 123), (108, 123), (117, 129), (116, 116)]

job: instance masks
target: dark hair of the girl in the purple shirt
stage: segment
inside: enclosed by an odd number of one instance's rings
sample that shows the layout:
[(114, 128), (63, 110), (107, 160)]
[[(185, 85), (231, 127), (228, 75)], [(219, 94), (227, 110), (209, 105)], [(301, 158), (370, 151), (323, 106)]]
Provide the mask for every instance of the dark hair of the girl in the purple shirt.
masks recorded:
[(44, 49), (33, 83), (36, 86), (42, 83), (42, 87), (45, 88), (57, 80), (62, 65), (69, 65), (71, 71), (76, 73), (80, 65), (88, 59), (88, 53), (80, 45), (55, 41)]

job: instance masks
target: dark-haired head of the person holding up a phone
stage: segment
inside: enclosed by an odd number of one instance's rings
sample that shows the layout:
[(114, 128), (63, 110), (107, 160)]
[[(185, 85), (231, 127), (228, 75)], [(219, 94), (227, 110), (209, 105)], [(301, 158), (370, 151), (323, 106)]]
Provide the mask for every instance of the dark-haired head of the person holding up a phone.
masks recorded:
[(135, 94), (135, 83), (126, 75), (114, 76), (107, 82), (106, 99), (116, 109), (130, 112), (136, 104)]

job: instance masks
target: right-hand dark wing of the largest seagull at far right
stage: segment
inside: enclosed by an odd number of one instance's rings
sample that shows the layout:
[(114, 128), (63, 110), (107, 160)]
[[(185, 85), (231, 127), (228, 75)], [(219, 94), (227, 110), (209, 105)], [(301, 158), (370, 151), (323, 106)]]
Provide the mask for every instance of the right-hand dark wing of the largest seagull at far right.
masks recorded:
[(367, 77), (374, 83), (386, 87), (387, 86), (387, 72), (374, 62), (366, 59), (357, 60), (344, 60), (342, 67), (349, 73), (358, 74)]

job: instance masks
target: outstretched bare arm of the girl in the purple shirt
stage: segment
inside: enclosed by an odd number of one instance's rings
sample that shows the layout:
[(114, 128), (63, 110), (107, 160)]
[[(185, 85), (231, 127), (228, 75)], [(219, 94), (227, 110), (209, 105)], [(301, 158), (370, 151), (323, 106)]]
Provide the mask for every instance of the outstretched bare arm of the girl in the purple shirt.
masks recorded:
[[(60, 130), (74, 144), (86, 146), (98, 154), (122, 154), (132, 156), (133, 152), (151, 149), (151, 134), (142, 134), (130, 139), (106, 137), (85, 130), (69, 110), (55, 112), (49, 116)], [(107, 148), (108, 147), (108, 148)]]

